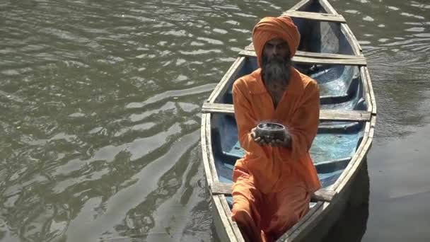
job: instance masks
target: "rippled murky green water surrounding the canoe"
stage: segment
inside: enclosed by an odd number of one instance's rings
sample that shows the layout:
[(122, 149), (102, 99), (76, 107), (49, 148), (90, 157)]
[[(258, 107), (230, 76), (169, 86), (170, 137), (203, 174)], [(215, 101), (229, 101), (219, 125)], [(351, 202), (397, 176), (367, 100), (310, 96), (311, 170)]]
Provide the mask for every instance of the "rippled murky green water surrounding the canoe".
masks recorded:
[[(199, 107), (259, 18), (295, 2), (0, 0), (0, 241), (216, 241)], [(430, 4), (331, 2), (378, 102), (368, 219), (350, 226), (425, 241)]]

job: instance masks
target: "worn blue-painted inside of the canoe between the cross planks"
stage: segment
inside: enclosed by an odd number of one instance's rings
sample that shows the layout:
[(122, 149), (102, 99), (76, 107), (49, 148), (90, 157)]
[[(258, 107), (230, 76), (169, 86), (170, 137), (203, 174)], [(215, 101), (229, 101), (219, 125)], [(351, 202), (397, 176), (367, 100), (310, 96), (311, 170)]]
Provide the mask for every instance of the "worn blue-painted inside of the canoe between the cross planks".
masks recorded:
[[(318, 1), (305, 6), (301, 11), (325, 13)], [(301, 32), (299, 50), (332, 54), (354, 54), (339, 23), (325, 23), (294, 19)], [(296, 69), (312, 77), (320, 86), (321, 109), (367, 110), (363, 97), (363, 86), (359, 67), (344, 65), (295, 64)], [(237, 76), (250, 74), (257, 69), (257, 59), (246, 57), (245, 64)], [(221, 98), (221, 103), (232, 104), (231, 86)], [(320, 122), (310, 154), (318, 171), (322, 187), (335, 183), (339, 175), (356, 152), (364, 135), (363, 122)], [(233, 166), (243, 157), (244, 151), (238, 143), (238, 129), (233, 115), (211, 115), (211, 136), (214, 160), (223, 183), (231, 183)], [(227, 197), (231, 205), (231, 197)]]

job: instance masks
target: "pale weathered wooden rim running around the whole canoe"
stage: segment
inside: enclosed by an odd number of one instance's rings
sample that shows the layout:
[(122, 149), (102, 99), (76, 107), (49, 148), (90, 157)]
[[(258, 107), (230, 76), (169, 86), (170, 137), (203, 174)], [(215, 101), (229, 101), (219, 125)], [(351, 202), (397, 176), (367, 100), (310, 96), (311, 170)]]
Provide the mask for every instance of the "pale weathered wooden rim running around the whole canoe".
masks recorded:
[[(310, 1), (314, 0), (302, 0), (298, 2), (295, 6), (290, 8), (291, 10), (298, 10), (299, 8), (306, 6)], [(335, 8), (333, 8), (326, 0), (316, 0), (320, 1), (320, 4), (325, 8), (327, 13), (337, 14)], [(341, 30), (345, 36), (347, 36), (348, 41), (353, 47), (354, 54), (363, 55), (359, 42), (356, 40), (354, 34), (349, 29), (346, 23), (342, 23)], [(223, 79), (218, 83), (214, 91), (211, 93), (207, 102), (216, 103), (220, 96), (225, 93), (228, 84), (231, 81), (231, 77), (234, 76), (245, 62), (246, 57), (238, 57), (233, 63), (231, 68), (223, 76)], [(356, 177), (359, 168), (366, 160), (366, 154), (371, 147), (373, 142), (373, 132), (376, 124), (376, 102), (373, 94), (373, 87), (371, 85), (371, 79), (368, 74), (367, 67), (360, 67), (362, 81), (364, 83), (364, 92), (366, 102), (368, 103), (368, 111), (371, 112), (371, 120), (366, 122), (366, 128), (364, 132), (364, 138), (361, 142), (356, 154), (354, 154), (351, 159), (352, 162), (349, 163), (344, 173), (342, 173), (341, 178), (337, 180), (337, 183), (332, 185), (331, 189), (339, 192), (339, 195), (332, 200), (332, 202), (318, 202), (318, 206), (313, 207), (308, 212), (307, 216), (303, 217), (301, 221), (296, 224), (293, 228), (282, 236), (279, 241), (302, 241), (306, 240), (306, 236), (310, 231), (315, 229), (323, 217), (326, 217), (333, 208), (339, 207), (339, 204), (343, 204), (347, 199), (348, 193), (347, 188), (351, 185), (352, 180)], [(220, 237), (221, 241), (244, 241), (240, 230), (236, 222), (231, 219), (231, 211), (228, 207), (226, 197), (224, 195), (212, 195), (211, 185), (218, 182), (218, 175), (216, 175), (216, 169), (214, 168), (214, 157), (211, 153), (211, 140), (210, 140), (210, 120), (211, 114), (202, 114), (202, 135), (201, 135), (201, 145), (202, 145), (202, 156), (204, 163), (204, 170), (207, 178), (207, 188), (209, 195), (211, 195), (212, 202), (212, 212), (214, 215), (214, 223), (216, 227), (216, 233)], [(209, 138), (208, 138), (209, 137)]]

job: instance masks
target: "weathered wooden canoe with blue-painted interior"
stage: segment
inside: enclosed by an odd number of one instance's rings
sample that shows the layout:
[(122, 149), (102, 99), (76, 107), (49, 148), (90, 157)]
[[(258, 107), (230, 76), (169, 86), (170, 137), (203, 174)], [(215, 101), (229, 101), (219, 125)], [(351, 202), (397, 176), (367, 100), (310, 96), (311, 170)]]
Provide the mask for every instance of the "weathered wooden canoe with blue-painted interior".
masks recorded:
[[(291, 16), (301, 33), (294, 66), (320, 86), (320, 125), (310, 154), (322, 188), (313, 194), (310, 211), (279, 241), (318, 241), (351, 195), (376, 124), (376, 102), (359, 42), (345, 18), (326, 0), (303, 0), (282, 15)], [(211, 196), (216, 234), (221, 241), (243, 241), (231, 219), (231, 185), (235, 162), (244, 151), (238, 142), (232, 85), (257, 69), (251, 45), (238, 53), (202, 105), (202, 161)]]

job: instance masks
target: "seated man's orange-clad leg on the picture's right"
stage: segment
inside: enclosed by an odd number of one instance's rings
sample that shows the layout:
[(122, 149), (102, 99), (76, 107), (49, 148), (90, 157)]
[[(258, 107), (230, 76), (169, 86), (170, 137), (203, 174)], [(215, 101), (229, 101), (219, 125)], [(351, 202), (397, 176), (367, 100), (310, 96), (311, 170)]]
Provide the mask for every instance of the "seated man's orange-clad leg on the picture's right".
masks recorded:
[[(274, 214), (263, 228), (267, 241), (276, 241), (309, 211), (310, 193), (302, 186), (292, 186), (267, 197)], [(272, 205), (270, 205), (272, 204)]]

